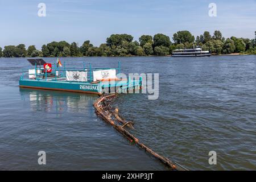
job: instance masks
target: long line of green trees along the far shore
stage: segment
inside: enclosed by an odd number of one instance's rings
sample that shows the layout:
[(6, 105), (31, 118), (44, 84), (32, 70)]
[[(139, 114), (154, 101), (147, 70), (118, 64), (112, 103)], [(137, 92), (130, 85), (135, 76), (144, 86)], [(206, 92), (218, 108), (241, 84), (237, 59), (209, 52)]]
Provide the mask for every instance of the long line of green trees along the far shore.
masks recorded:
[(139, 42), (133, 40), (128, 34), (113, 34), (99, 47), (93, 46), (86, 40), (81, 47), (76, 42), (69, 44), (65, 41), (44, 44), (39, 51), (35, 46), (0, 47), (0, 57), (80, 57), (80, 56), (164, 56), (171, 55), (174, 49), (193, 48), (201, 46), (203, 50), (212, 51), (213, 54), (256, 54), (255, 39), (236, 38), (225, 39), (221, 32), (216, 30), (213, 35), (205, 31), (200, 36), (193, 36), (189, 31), (178, 31), (170, 37), (164, 34), (142, 35)]

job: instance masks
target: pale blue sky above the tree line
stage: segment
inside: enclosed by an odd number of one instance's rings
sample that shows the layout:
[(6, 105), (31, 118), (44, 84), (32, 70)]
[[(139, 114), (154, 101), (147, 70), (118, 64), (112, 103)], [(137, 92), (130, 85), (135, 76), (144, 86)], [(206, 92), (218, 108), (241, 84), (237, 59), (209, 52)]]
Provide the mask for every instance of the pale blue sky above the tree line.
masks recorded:
[[(38, 16), (38, 4), (46, 3), (46, 17)], [(209, 3), (216, 3), (217, 17), (208, 16)], [(35, 45), (60, 40), (105, 43), (111, 34), (163, 33), (170, 38), (179, 30), (193, 35), (220, 30), (230, 36), (254, 38), (256, 1), (167, 0), (0, 0), (0, 47)]]

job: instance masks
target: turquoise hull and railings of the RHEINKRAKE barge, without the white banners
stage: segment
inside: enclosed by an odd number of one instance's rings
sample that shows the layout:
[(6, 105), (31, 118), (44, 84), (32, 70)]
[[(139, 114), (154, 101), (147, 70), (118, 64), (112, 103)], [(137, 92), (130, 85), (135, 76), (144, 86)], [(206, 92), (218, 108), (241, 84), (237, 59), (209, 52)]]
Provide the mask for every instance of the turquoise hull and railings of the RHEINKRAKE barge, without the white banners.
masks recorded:
[[(84, 64), (85, 65), (85, 64)], [(20, 88), (33, 88), (33, 89), (46, 89), (46, 90), (61, 90), (68, 92), (80, 92), (80, 93), (91, 93), (101, 95), (103, 93), (127, 93), (127, 90), (134, 90), (141, 88), (141, 78), (131, 80), (119, 79), (118, 77), (106, 78), (102, 80), (95, 80), (93, 78), (93, 71), (104, 71), (104, 73), (110, 69), (116, 69), (120, 72), (120, 64), (118, 68), (92, 68), (91, 64), (88, 69), (84, 68), (80, 71), (75, 68), (64, 69), (56, 68), (51, 73), (42, 73), (42, 69), (35, 65), (34, 72), (23, 73), (19, 80)], [(67, 80), (65, 72), (86, 72), (85, 80), (87, 81), (70, 81)], [(26, 75), (28, 78), (25, 78)], [(30, 78), (29, 78), (30, 77)]]

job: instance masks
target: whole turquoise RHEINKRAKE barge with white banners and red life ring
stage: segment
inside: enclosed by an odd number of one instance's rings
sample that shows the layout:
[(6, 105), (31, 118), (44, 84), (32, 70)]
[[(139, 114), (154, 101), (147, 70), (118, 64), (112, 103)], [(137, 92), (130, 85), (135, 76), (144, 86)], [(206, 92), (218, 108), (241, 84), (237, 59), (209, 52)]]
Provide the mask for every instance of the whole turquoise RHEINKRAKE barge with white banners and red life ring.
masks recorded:
[[(120, 73), (120, 63), (118, 68), (85, 68), (82, 69), (51, 67), (42, 59), (28, 60), (34, 69), (29, 69), (28, 73), (20, 76), (20, 88), (61, 90), (67, 92), (80, 92), (101, 95), (103, 93), (127, 93), (127, 90), (141, 88), (142, 79), (121, 79), (116, 73)], [(41, 65), (44, 65), (41, 68)], [(27, 78), (26, 78), (27, 76)]]

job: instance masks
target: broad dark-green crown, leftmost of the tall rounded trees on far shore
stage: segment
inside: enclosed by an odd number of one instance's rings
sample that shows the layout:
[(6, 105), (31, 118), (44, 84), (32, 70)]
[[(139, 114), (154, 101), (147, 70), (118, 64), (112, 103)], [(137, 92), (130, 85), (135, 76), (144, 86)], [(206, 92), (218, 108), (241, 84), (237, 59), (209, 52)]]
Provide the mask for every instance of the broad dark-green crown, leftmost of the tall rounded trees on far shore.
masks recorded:
[(121, 46), (123, 41), (132, 42), (133, 36), (128, 34), (112, 34), (109, 38), (106, 39), (108, 46)]

